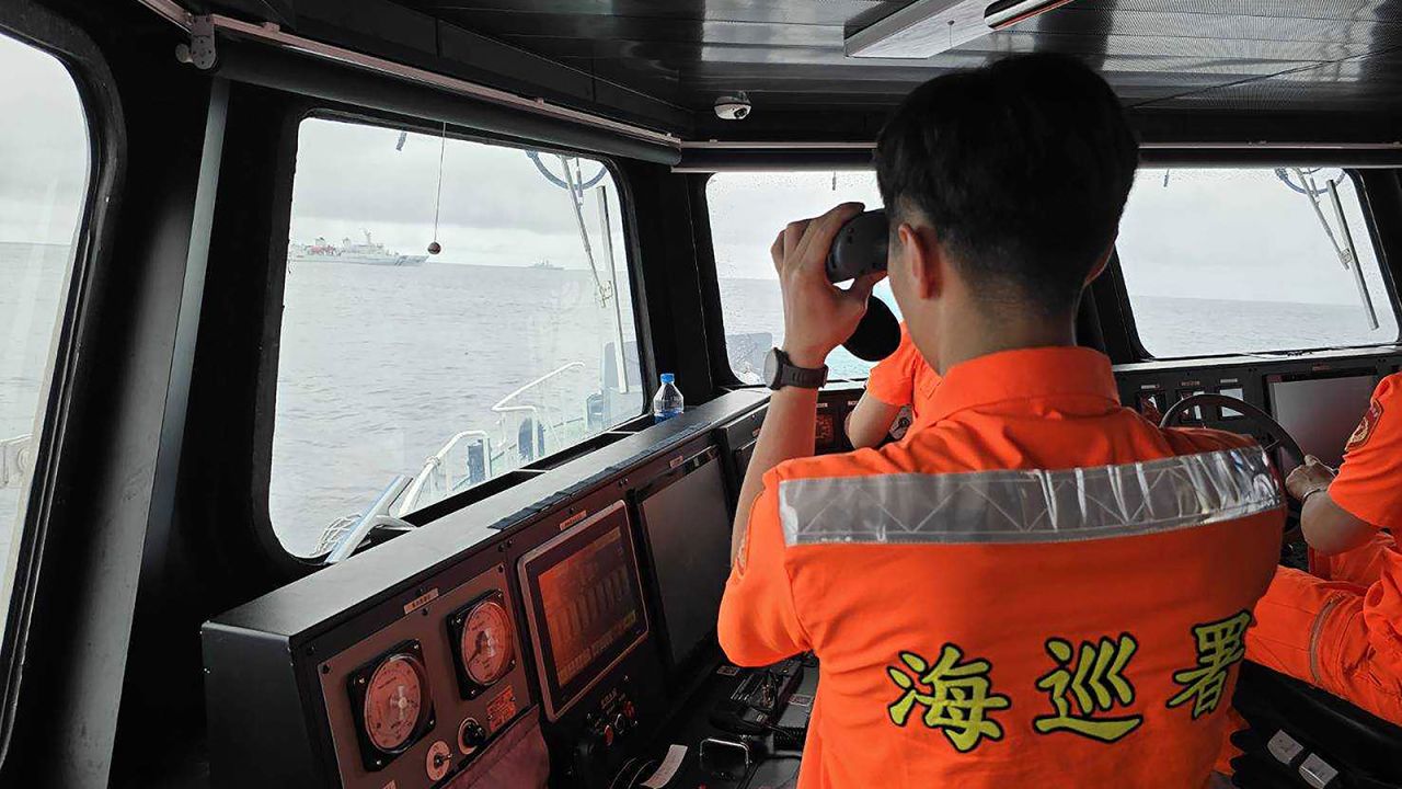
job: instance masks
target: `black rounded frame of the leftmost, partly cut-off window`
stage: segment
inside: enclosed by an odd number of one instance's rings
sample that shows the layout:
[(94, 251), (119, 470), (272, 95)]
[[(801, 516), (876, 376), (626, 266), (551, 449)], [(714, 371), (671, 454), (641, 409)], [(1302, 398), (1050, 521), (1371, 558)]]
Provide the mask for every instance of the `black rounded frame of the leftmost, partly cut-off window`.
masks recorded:
[[(46, 376), (41, 382), (35, 424), (34, 472), (25, 508), (17, 519), (14, 585), (3, 601), (4, 628), (0, 630), (0, 774), (8, 772), (17, 713), (27, 702), (22, 663), (28, 651), (35, 611), (52, 584), (41, 584), (45, 546), (55, 526), (57, 484), (66, 465), (69, 425), (79, 414), (73, 403), (83, 369), (79, 345), (88, 331), (88, 303), (94, 296), (94, 271), (111, 258), (119, 213), (121, 184), (126, 166), (126, 135), (121, 98), (112, 72), (97, 44), (67, 18), (42, 6), (20, 4), (0, 8), (0, 35), (31, 46), (55, 60), (73, 80), (87, 131), (88, 174), (83, 205), (73, 236), (64, 292), (53, 316), (52, 354), (46, 354)], [(81, 369), (80, 369), (81, 368)], [(8, 560), (8, 559), (7, 559)], [(49, 569), (53, 571), (53, 569)], [(0, 574), (3, 574), (0, 567)], [(50, 590), (52, 591), (52, 590)], [(32, 701), (32, 699), (31, 699)]]

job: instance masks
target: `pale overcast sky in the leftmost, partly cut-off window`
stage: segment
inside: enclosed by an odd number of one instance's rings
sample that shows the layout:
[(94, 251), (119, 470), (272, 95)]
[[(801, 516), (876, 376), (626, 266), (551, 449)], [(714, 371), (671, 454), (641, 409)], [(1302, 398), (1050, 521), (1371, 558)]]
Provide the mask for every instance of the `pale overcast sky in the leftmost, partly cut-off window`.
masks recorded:
[(69, 244), (88, 171), (73, 77), (0, 35), (0, 241)]

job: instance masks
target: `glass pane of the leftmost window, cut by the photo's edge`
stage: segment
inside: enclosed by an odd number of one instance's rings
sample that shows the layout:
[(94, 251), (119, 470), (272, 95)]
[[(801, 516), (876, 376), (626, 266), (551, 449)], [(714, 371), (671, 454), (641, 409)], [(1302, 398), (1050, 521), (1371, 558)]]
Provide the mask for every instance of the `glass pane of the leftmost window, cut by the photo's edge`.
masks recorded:
[[(52, 55), (0, 35), (0, 632), (48, 432), (49, 386), (93, 170), (87, 115)], [(22, 571), (20, 573), (22, 577)]]

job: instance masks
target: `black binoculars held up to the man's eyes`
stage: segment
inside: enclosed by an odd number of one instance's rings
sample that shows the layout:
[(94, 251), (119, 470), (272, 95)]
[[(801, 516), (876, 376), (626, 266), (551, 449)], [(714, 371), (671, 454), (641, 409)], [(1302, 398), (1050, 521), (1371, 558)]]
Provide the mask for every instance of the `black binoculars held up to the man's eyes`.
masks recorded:
[[(827, 279), (847, 282), (876, 271), (886, 271), (886, 244), (890, 239), (890, 223), (886, 209), (865, 211), (847, 220), (827, 250)], [(896, 352), (900, 345), (900, 321), (886, 302), (872, 296), (866, 299), (866, 314), (852, 336), (843, 343), (858, 359), (879, 362)]]

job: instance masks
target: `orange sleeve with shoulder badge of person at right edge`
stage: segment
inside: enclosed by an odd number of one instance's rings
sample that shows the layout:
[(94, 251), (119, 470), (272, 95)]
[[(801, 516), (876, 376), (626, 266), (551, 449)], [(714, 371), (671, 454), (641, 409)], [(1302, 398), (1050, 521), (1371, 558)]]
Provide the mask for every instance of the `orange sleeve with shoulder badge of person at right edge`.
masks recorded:
[(1349, 437), (1329, 497), (1374, 526), (1402, 526), (1402, 396), (1398, 376), (1382, 379)]

